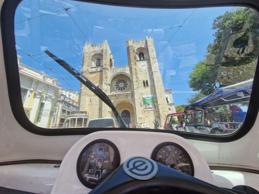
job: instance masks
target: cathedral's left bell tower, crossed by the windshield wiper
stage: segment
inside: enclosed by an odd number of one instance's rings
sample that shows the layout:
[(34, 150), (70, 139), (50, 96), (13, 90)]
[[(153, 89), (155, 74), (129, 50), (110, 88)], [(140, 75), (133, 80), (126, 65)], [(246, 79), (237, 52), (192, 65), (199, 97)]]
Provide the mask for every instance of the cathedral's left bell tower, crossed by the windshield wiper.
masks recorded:
[[(109, 90), (109, 71), (113, 63), (113, 55), (107, 40), (99, 45), (93, 45), (90, 42), (84, 45), (82, 74), (105, 93)], [(82, 84), (80, 85), (79, 108), (87, 111), (90, 118), (108, 116), (109, 107)]]

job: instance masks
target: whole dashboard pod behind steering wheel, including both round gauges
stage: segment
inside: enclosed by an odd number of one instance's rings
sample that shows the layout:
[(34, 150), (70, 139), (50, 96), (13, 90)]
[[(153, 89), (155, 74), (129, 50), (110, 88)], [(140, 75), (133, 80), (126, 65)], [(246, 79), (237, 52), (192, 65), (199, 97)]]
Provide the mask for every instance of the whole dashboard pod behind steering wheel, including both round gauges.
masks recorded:
[(193, 144), (178, 135), (100, 131), (83, 137), (67, 152), (51, 193), (88, 193), (132, 156), (151, 158), (213, 184), (203, 156)]

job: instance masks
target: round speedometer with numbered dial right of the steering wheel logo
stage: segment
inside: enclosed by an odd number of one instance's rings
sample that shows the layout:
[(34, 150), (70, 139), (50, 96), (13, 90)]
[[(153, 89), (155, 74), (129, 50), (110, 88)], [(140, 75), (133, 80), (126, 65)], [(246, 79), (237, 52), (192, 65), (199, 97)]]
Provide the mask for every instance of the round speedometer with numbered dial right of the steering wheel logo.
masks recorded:
[(194, 176), (193, 162), (182, 146), (173, 142), (163, 142), (155, 147), (151, 159), (180, 172)]

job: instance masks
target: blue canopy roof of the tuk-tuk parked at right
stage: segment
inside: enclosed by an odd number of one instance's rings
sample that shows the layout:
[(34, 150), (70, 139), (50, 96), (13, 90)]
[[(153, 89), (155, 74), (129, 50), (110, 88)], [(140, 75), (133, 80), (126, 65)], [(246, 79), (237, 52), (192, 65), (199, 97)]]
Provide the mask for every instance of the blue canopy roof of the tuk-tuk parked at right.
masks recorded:
[(218, 89), (216, 92), (193, 102), (188, 107), (215, 107), (220, 105), (228, 105), (242, 102), (249, 102), (252, 91), (253, 79), (229, 85)]

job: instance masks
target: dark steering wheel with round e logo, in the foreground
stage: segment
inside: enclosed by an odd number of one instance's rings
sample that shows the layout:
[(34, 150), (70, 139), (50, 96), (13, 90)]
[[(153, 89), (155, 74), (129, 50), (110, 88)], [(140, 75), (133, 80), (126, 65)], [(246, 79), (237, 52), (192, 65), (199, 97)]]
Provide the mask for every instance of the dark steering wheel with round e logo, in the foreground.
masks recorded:
[[(144, 178), (143, 178), (144, 177)], [(142, 156), (133, 156), (89, 194), (233, 194)]]

